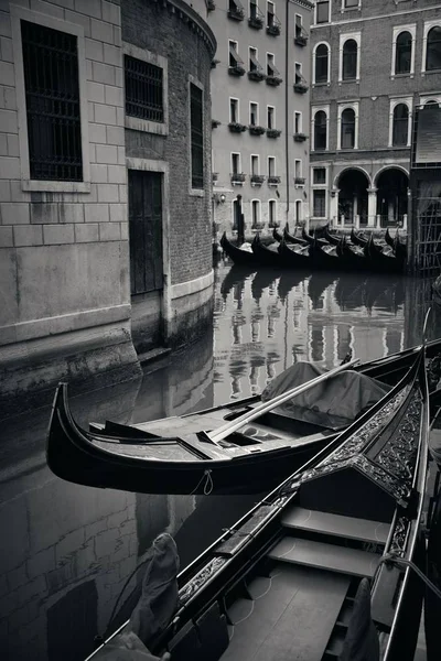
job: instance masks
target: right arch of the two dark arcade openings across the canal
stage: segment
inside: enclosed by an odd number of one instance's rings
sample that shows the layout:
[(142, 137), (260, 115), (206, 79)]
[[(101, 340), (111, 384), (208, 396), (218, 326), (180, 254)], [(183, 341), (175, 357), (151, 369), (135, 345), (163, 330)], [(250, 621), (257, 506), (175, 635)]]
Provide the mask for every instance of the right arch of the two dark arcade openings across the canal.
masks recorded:
[(376, 181), (377, 216), (380, 227), (397, 227), (407, 217), (409, 177), (398, 167), (388, 167)]

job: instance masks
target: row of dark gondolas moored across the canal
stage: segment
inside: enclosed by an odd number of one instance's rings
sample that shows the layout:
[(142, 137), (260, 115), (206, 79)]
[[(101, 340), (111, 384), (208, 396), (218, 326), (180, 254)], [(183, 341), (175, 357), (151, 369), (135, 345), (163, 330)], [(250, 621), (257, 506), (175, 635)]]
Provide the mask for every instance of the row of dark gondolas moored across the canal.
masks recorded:
[(330, 232), (329, 227), (321, 228), (314, 235), (302, 228), (302, 236), (289, 232), (288, 225), (283, 234), (273, 230), (275, 241), (265, 245), (257, 234), (251, 243), (235, 246), (224, 232), (220, 246), (236, 263), (252, 267), (283, 267), (303, 270), (345, 270), (369, 271), (377, 273), (401, 273), (406, 263), (406, 243), (397, 232), (392, 238), (386, 230), (384, 241), (375, 241), (358, 235), (354, 229), (349, 239)]

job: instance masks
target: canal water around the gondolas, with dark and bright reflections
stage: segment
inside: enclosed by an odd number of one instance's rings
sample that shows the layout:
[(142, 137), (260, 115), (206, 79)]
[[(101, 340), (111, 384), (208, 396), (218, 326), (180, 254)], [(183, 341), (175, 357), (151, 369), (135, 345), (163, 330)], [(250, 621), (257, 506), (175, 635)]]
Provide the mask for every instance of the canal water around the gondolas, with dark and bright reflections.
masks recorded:
[[(73, 398), (72, 409), (82, 425), (141, 422), (257, 393), (299, 360), (381, 357), (420, 342), (429, 297), (418, 280), (220, 261), (213, 328), (197, 345), (139, 381)], [(434, 315), (429, 337), (440, 330)], [(0, 423), (0, 658), (14, 661), (80, 661), (130, 613), (142, 572), (121, 590), (157, 534), (174, 535), (185, 566), (259, 499), (64, 483), (45, 465), (49, 414)]]

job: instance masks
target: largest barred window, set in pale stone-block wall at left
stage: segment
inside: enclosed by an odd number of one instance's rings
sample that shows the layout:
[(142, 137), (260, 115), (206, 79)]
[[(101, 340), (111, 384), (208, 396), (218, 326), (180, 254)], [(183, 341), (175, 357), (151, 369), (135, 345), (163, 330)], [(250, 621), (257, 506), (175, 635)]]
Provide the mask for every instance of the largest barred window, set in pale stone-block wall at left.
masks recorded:
[(21, 21), (32, 180), (83, 181), (77, 37)]

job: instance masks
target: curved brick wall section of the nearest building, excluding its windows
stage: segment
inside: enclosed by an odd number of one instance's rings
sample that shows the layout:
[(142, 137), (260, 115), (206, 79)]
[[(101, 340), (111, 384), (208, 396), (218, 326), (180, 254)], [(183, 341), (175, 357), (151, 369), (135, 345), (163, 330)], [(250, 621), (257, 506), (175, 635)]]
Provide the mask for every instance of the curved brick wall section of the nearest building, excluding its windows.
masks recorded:
[[(183, 3), (184, 4), (184, 3)], [(185, 11), (185, 9), (184, 9)], [(191, 10), (189, 10), (191, 11)], [(213, 50), (185, 20), (185, 14), (160, 3), (130, 0), (121, 6), (122, 40), (168, 59), (169, 134), (126, 130), (127, 155), (166, 161), (170, 191), (170, 273), (176, 284), (205, 275), (212, 269), (211, 227), (211, 96)], [(190, 131), (189, 75), (204, 87), (204, 195), (189, 194)]]

